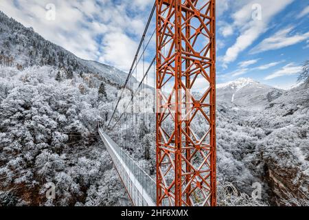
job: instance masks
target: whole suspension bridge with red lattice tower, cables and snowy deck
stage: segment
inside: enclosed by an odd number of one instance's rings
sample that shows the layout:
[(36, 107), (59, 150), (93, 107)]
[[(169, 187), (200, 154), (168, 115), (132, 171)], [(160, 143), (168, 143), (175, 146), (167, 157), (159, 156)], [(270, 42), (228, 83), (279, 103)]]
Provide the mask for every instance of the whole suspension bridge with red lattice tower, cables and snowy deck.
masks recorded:
[[(156, 0), (113, 113), (98, 124), (134, 206), (216, 206), (215, 12), (215, 0)], [(153, 125), (155, 175), (122, 148), (140, 123)]]

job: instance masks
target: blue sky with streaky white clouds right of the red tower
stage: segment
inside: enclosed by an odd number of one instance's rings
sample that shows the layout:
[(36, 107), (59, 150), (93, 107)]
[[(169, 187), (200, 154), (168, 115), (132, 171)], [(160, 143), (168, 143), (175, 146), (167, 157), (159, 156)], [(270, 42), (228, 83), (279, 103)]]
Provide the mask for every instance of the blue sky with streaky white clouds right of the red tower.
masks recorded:
[[(218, 82), (249, 77), (285, 89), (295, 85), (309, 58), (309, 2), (220, 2), (229, 9), (218, 12)], [(261, 5), (260, 20), (252, 19), (254, 3)]]

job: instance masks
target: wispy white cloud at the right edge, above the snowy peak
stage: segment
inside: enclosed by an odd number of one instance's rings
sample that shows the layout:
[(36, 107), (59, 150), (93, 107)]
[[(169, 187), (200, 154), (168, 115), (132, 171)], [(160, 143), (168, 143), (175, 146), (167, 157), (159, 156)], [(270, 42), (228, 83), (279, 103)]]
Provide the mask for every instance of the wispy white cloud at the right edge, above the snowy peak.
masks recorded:
[(277, 50), (283, 47), (288, 47), (290, 45), (295, 45), (300, 43), (301, 41), (306, 41), (309, 39), (309, 32), (304, 34), (294, 34), (290, 36), (290, 32), (293, 31), (293, 28), (285, 28), (283, 30), (279, 30), (273, 36), (264, 39), (259, 45), (254, 47), (251, 50), (252, 54), (257, 54), (260, 52), (265, 52), (268, 50)]

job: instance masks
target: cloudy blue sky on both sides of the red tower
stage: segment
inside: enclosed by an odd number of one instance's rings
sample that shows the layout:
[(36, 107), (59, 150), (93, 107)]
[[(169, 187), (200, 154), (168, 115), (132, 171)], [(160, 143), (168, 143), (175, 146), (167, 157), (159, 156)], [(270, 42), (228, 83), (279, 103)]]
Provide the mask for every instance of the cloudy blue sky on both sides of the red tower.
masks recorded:
[[(46, 17), (50, 3), (55, 6), (54, 19)], [(128, 71), (153, 3), (153, 0), (1, 0), (0, 10), (81, 58)], [(301, 65), (309, 59), (309, 2), (217, 0), (216, 3), (218, 83), (246, 77), (284, 89), (295, 85)], [(152, 23), (150, 30), (153, 28)], [(155, 50), (153, 40), (146, 54), (148, 62)], [(139, 65), (138, 77), (141, 69)]]

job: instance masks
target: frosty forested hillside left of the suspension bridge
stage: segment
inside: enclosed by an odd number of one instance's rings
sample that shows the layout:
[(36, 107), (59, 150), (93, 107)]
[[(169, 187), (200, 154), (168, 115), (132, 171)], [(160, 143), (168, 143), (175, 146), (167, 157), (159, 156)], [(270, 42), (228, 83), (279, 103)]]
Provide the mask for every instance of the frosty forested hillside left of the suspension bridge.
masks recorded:
[[(0, 204), (128, 204), (102, 142), (126, 74), (83, 61), (0, 12)], [(54, 182), (57, 199), (47, 201)], [(99, 193), (100, 192), (100, 193)]]

